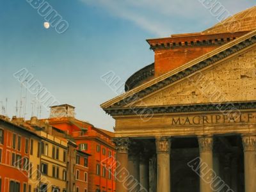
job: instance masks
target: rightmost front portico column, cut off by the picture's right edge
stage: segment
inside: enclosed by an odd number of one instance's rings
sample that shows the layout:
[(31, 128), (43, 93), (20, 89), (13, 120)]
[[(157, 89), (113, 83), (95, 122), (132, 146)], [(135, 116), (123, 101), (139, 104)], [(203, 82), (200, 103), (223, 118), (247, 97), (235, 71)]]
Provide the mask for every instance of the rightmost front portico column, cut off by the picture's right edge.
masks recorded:
[(256, 136), (243, 136), (245, 192), (256, 191)]

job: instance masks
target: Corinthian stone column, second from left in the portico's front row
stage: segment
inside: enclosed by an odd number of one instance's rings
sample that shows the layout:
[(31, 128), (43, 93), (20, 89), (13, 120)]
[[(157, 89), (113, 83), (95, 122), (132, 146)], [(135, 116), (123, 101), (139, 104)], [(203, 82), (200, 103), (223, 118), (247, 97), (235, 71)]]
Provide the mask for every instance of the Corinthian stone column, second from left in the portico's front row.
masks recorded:
[(157, 192), (171, 191), (170, 138), (156, 138)]

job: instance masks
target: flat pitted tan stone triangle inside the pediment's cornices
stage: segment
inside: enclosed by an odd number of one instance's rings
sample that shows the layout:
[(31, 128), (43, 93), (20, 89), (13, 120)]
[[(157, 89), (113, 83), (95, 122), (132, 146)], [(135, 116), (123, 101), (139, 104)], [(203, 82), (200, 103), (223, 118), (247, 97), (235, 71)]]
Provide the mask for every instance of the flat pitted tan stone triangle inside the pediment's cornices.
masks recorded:
[(230, 60), (199, 70), (127, 106), (170, 106), (251, 100), (256, 100), (256, 47)]

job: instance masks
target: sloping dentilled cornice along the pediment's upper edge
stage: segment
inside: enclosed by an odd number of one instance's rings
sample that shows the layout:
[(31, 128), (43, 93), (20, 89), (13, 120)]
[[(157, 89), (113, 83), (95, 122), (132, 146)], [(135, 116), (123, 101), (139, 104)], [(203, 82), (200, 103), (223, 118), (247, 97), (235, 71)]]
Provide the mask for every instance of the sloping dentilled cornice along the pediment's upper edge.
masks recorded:
[(186, 63), (185, 65), (164, 74), (163, 76), (157, 77), (148, 83), (142, 84), (141, 86), (138, 86), (127, 93), (101, 104), (101, 108), (103, 108), (105, 111), (109, 108), (121, 108), (131, 102), (134, 102), (138, 98), (142, 98), (145, 97), (145, 95), (156, 92), (156, 90), (159, 90), (168, 84), (179, 81), (180, 79), (189, 76), (202, 68), (208, 67), (213, 63), (224, 60), (233, 54), (239, 53), (243, 49), (255, 44), (255, 42), (256, 31), (247, 33), (246, 35), (241, 36), (228, 44), (214, 49), (214, 51), (211, 51), (204, 56), (197, 58), (196, 60), (190, 61), (189, 63)]

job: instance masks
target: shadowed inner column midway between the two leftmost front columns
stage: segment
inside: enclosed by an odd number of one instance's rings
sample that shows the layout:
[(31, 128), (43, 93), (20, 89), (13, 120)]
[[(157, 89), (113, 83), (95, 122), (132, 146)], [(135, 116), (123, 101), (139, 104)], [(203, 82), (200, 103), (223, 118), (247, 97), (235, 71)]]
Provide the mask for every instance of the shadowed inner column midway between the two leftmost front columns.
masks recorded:
[(141, 188), (149, 191), (149, 159), (148, 150), (144, 150), (140, 154), (140, 184)]

